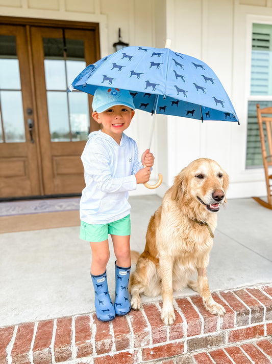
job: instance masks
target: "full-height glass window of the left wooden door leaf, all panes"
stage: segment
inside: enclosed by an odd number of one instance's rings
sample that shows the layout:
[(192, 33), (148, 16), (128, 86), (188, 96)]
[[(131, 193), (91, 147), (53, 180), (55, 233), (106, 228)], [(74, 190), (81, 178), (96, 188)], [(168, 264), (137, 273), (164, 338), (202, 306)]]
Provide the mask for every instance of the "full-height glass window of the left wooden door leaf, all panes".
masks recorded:
[(0, 35), (0, 142), (24, 142), (19, 62), (16, 37)]

